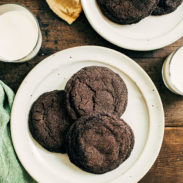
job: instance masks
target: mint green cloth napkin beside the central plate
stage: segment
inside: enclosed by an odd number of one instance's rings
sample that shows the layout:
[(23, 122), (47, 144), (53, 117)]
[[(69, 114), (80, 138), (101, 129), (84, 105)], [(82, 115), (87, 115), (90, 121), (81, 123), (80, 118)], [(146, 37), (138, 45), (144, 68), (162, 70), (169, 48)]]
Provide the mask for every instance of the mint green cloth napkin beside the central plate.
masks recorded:
[(19, 163), (10, 134), (13, 91), (0, 80), (0, 183), (35, 183)]

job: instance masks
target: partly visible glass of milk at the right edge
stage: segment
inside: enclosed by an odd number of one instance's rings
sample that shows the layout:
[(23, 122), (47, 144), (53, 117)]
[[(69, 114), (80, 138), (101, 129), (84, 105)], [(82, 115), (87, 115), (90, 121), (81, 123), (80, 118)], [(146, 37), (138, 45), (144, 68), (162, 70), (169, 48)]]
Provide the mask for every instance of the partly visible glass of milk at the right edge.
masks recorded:
[(167, 57), (162, 76), (169, 90), (183, 96), (183, 46)]

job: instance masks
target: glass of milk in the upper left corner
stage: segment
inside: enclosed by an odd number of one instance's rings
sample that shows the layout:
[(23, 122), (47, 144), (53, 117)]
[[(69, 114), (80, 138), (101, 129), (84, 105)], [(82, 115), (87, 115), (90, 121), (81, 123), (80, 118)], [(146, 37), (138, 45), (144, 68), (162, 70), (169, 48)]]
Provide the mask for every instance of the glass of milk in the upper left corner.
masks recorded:
[(39, 23), (27, 8), (0, 5), (0, 61), (28, 61), (37, 55), (41, 44)]

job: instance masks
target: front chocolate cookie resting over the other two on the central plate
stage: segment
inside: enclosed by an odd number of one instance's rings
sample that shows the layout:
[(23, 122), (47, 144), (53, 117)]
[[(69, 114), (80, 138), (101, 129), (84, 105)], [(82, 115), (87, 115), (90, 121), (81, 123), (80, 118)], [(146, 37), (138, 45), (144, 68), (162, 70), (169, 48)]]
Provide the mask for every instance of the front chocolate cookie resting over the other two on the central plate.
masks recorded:
[(80, 118), (71, 126), (66, 139), (70, 161), (95, 174), (117, 168), (130, 156), (134, 146), (131, 128), (108, 114)]

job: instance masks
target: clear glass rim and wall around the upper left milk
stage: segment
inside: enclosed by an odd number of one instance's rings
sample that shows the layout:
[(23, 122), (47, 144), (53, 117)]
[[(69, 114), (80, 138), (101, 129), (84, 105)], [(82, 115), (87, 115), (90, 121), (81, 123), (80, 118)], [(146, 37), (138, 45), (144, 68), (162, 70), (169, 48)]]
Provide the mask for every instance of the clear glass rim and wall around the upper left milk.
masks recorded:
[(28, 60), (31, 60), (32, 58), (34, 58), (42, 45), (42, 34), (41, 34), (41, 30), (39, 27), (39, 23), (36, 19), (36, 17), (32, 14), (32, 12), (30, 10), (28, 10), (26, 7), (22, 6), (22, 5), (18, 5), (18, 4), (3, 4), (0, 5), (0, 15), (7, 13), (9, 11), (25, 11), (31, 18), (31, 20), (33, 21), (33, 23), (36, 25), (36, 36), (37, 36), (37, 41), (35, 42), (35, 45), (33, 46), (33, 49), (30, 50), (30, 52), (26, 55), (23, 56), (22, 58), (18, 58), (15, 60), (8, 60), (6, 58), (3, 58), (2, 56), (0, 56), (0, 61), (4, 61), (4, 62), (15, 62), (15, 63), (20, 63), (20, 62), (26, 62)]

